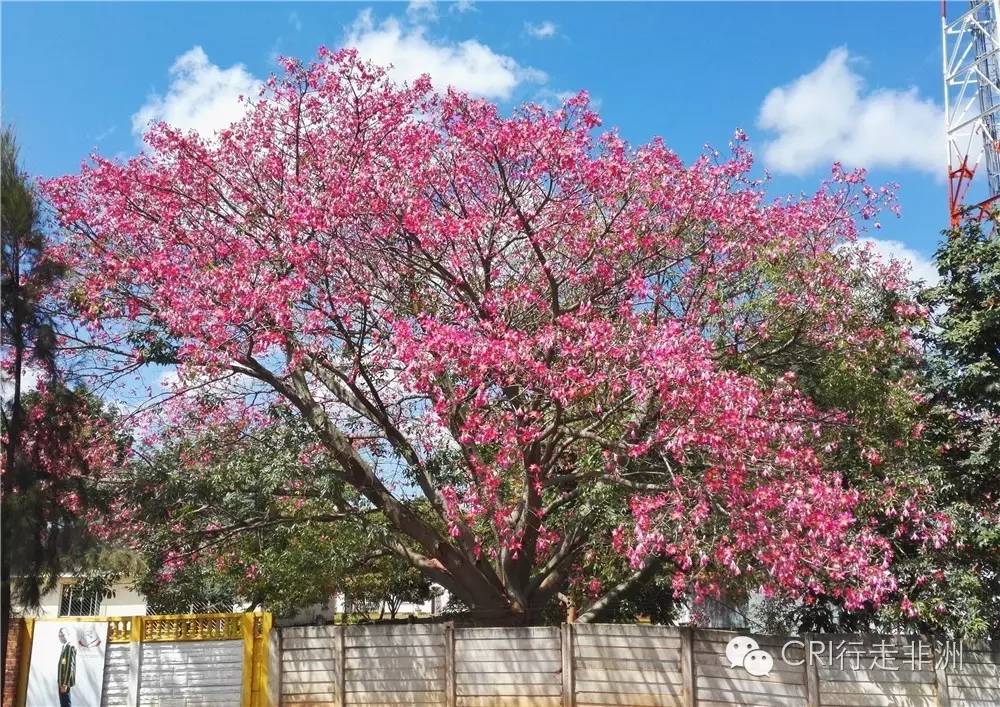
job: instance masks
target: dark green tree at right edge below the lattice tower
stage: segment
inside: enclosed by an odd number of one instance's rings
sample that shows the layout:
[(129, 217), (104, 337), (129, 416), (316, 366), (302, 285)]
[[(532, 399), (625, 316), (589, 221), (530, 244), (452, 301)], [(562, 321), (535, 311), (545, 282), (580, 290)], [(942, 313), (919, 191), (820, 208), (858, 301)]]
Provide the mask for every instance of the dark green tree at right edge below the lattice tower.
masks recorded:
[[(944, 552), (913, 559), (921, 625), (946, 617), (955, 633), (1000, 636), (1000, 236), (968, 218), (935, 255), (940, 282), (923, 301), (928, 438), (939, 451), (940, 503), (953, 519)], [(934, 581), (928, 581), (931, 577)]]

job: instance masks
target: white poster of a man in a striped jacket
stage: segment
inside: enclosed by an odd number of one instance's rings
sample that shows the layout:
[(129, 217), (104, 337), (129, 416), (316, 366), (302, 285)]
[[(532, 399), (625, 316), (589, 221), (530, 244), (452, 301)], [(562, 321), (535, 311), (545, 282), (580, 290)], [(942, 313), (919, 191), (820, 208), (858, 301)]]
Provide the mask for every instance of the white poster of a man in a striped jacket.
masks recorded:
[(100, 707), (108, 624), (36, 621), (26, 707)]

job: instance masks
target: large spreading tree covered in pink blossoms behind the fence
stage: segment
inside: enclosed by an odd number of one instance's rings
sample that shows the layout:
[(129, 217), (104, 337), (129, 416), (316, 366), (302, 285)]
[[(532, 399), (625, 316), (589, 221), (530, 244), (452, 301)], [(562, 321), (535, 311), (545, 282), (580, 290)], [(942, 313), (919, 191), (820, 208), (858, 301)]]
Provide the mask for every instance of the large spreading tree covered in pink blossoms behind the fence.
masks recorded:
[(654, 572), (877, 605), (893, 535), (943, 529), (875, 449), (845, 478), (855, 416), (789, 362), (905, 355), (904, 279), (850, 245), (891, 191), (768, 201), (742, 135), (685, 165), (598, 126), (321, 50), (217, 135), (156, 125), (45, 188), (94, 340), (180, 365), (171, 419), (293, 412), (339, 511), (483, 615), (583, 587), (593, 618)]

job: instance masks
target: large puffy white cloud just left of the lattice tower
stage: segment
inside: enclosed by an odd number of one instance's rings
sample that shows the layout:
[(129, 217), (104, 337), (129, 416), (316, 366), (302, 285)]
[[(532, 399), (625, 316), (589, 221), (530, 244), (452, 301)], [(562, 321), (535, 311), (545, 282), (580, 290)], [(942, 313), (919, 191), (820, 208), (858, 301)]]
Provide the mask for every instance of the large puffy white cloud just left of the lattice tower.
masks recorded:
[(764, 146), (777, 172), (804, 174), (841, 161), (847, 167), (944, 172), (941, 106), (916, 88), (865, 91), (852, 57), (840, 47), (818, 67), (773, 89), (758, 124), (778, 133)]

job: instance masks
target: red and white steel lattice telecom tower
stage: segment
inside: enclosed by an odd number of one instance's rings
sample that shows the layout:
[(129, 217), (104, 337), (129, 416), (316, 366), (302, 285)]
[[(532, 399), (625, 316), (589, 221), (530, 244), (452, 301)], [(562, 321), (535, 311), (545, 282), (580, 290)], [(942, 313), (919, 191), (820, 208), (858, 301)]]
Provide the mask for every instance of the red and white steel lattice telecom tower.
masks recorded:
[[(966, 197), (985, 216), (1000, 199), (1000, 0), (972, 0), (968, 9), (949, 21), (941, 2), (944, 56), (944, 112), (948, 142), (948, 208), (951, 225), (957, 226)], [(980, 162), (980, 177), (972, 194)]]

